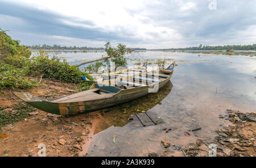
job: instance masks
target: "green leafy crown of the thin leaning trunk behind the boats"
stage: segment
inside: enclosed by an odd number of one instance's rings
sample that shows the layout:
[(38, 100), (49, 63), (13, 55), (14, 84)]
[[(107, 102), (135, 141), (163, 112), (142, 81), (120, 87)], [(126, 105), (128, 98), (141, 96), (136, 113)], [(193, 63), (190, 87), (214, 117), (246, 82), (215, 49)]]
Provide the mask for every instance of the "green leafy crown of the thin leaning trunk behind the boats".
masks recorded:
[[(132, 49), (126, 48), (126, 45), (123, 44), (118, 44), (117, 48), (112, 48), (109, 42), (105, 44), (105, 47), (106, 53), (111, 57), (110, 60), (115, 63), (115, 69), (117, 69), (118, 66), (127, 67), (125, 54), (132, 53)], [(110, 60), (104, 60), (108, 68), (110, 68)]]

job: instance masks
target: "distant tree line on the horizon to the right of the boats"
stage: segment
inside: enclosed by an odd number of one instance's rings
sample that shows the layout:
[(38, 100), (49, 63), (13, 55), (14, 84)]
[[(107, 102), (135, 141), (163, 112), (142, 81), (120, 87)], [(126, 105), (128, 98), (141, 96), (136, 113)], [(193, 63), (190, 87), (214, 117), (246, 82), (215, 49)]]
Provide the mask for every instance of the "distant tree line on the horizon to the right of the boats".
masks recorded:
[(255, 51), (256, 50), (256, 44), (253, 45), (224, 45), (224, 46), (209, 46), (209, 45), (203, 45), (200, 44), (199, 47), (188, 47), (188, 48), (170, 48), (170, 49), (164, 49), (164, 50), (174, 50), (174, 51), (187, 51), (187, 50), (227, 50), (227, 49), (233, 49), (233, 50), (242, 50), (242, 51)]

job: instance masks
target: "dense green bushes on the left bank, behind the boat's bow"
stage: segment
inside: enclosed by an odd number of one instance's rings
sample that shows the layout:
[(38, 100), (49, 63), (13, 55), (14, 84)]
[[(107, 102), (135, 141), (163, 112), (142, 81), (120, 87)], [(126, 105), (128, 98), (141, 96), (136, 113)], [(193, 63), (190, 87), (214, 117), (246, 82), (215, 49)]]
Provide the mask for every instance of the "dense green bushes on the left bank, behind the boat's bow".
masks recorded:
[(36, 79), (30, 77), (54, 78), (68, 83), (80, 83), (84, 75), (93, 79), (88, 73), (80, 70), (75, 65), (70, 65), (66, 60), (39, 51), (30, 58), (31, 51), (24, 45), (19, 45), (18, 40), (13, 40), (6, 31), (0, 29), (0, 87), (13, 89), (28, 89), (37, 86)]

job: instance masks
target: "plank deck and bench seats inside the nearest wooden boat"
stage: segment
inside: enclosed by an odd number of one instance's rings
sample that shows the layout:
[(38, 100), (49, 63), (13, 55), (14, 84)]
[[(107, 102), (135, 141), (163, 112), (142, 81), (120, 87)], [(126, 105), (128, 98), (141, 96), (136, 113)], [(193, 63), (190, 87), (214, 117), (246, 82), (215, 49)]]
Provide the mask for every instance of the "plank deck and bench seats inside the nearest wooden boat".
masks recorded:
[(82, 91), (80, 93), (64, 96), (52, 100), (53, 103), (71, 103), (88, 100), (110, 98), (114, 94), (124, 89), (132, 89), (135, 87), (147, 86), (152, 83), (158, 83), (170, 77), (170, 74), (147, 72), (146, 69), (130, 69), (126, 72), (103, 75), (104, 81), (114, 79), (114, 85), (106, 85), (104, 83), (94, 83), (92, 89)]

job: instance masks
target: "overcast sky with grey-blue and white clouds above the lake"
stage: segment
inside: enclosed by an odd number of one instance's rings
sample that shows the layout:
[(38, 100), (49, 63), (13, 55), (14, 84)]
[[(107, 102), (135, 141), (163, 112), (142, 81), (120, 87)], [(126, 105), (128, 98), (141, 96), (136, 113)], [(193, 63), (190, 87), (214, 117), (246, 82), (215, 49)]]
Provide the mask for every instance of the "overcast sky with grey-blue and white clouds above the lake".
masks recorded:
[(147, 49), (256, 43), (256, 1), (0, 0), (0, 28), (22, 44)]

